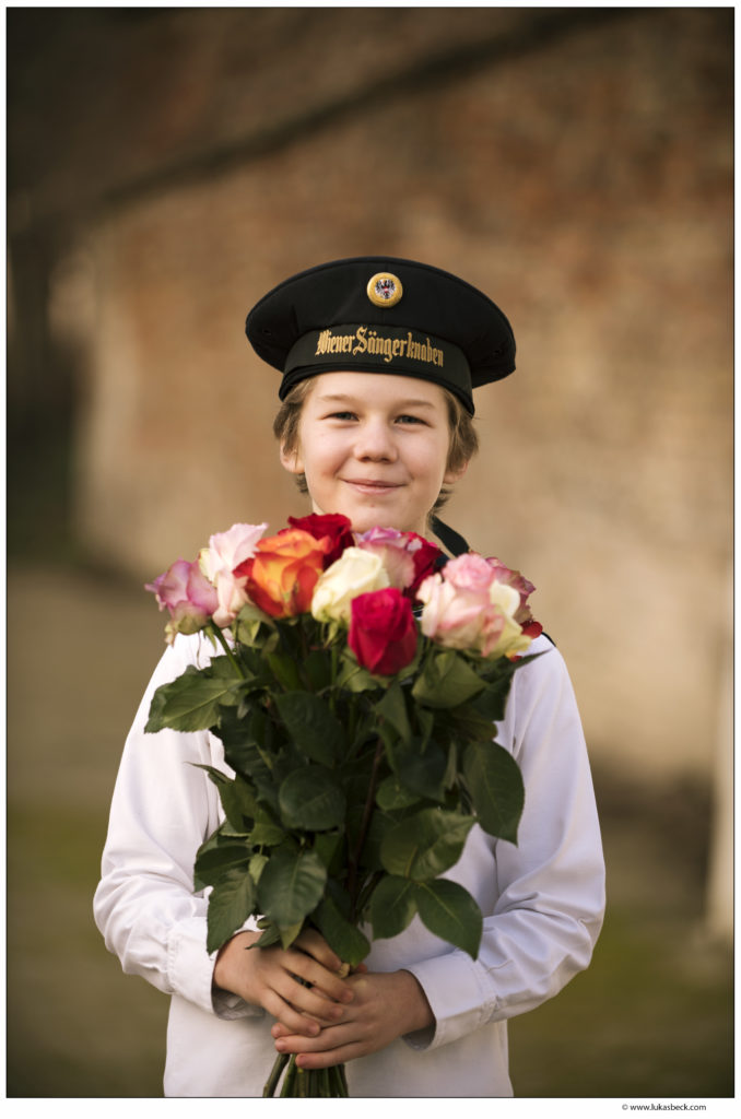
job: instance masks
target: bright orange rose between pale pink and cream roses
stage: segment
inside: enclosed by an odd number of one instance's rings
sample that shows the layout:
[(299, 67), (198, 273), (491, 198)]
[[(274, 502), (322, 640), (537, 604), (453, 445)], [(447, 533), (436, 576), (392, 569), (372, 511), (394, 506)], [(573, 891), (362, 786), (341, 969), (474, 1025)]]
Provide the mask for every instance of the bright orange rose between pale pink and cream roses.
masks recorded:
[(284, 528), (259, 540), (255, 554), (234, 568), (247, 579), (252, 601), (272, 618), (306, 613), (311, 595), (332, 547), (330, 537), (316, 539), (301, 528)]

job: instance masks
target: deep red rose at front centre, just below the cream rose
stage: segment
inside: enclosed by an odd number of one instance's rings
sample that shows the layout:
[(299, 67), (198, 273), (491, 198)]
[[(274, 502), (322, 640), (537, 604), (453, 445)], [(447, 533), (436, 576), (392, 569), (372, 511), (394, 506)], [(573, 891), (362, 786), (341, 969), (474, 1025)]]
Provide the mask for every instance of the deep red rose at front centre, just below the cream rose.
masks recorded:
[(359, 594), (353, 599), (347, 643), (368, 671), (393, 676), (416, 652), (412, 603), (395, 586)]

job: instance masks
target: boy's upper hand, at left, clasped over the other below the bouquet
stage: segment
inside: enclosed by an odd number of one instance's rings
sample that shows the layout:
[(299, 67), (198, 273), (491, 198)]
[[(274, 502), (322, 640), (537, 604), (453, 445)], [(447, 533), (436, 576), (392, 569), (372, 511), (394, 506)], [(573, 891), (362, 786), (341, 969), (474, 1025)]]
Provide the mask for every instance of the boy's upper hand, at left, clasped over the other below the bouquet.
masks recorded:
[(340, 1019), (355, 994), (338, 977), (341, 960), (326, 940), (307, 930), (288, 949), (251, 949), (260, 935), (238, 932), (222, 948), (215, 985), (262, 1006), (290, 1034), (316, 1036), (322, 1025)]

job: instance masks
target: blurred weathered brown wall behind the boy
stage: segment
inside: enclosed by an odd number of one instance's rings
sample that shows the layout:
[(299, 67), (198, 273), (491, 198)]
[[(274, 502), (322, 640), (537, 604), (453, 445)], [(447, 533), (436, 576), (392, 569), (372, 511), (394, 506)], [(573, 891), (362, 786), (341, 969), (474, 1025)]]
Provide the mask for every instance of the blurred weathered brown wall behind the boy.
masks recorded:
[[(107, 81), (83, 67), (83, 140), (96, 120), (103, 139), (49, 295), (82, 355), (88, 551), (151, 577), (235, 520), (281, 527), (302, 506), (246, 311), (334, 257), (438, 264), (518, 344), (478, 393), (448, 519), (538, 586), (594, 758), (707, 773), (731, 609), (732, 44), (731, 13), (700, 8), (173, 9), (121, 30)], [(65, 173), (24, 213), (72, 197)]]

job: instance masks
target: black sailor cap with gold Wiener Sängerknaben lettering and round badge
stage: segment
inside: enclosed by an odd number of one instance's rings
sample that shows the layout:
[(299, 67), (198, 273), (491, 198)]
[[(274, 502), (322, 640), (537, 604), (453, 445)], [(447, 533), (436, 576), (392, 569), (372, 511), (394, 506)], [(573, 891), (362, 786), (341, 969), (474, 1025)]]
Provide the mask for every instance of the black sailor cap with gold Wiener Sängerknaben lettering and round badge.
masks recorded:
[(515, 336), (496, 303), (450, 272), (394, 256), (299, 272), (252, 308), (246, 335), (283, 374), (281, 399), (318, 373), (357, 369), (431, 380), (472, 415), (472, 389), (515, 369)]

